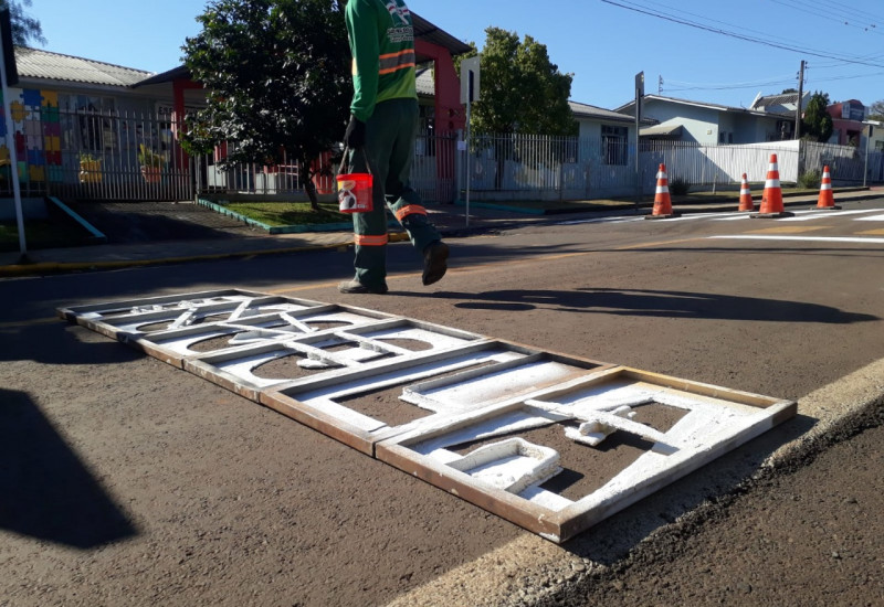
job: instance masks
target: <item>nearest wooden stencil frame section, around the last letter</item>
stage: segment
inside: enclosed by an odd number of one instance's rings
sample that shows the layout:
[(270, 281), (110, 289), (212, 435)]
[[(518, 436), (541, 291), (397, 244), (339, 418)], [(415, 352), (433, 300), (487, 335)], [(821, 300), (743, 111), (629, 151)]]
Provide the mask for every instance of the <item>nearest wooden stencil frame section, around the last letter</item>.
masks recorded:
[[(463, 438), (462, 436), (459, 438), (457, 433), (477, 432), (476, 428), (483, 426), (493, 428), (497, 419), (512, 423), (514, 415), (523, 415), (526, 418), (538, 415), (539, 409), (536, 408), (536, 405), (540, 403), (551, 402), (555, 404), (557, 401), (560, 403), (569, 394), (581, 391), (587, 394), (592, 394), (594, 391), (599, 396), (606, 397), (607, 386), (611, 386), (613, 390), (624, 383), (651, 386), (652, 391), (659, 390), (661, 395), (665, 395), (661, 396), (662, 398), (682, 403), (685, 406), (690, 403), (697, 403), (697, 409), (708, 409), (714, 413), (719, 407), (728, 415), (733, 413), (733, 420), (725, 427), (716, 428), (705, 441), (699, 440), (697, 445), (677, 445), (674, 452), (654, 452), (652, 449), (601, 489), (575, 501), (567, 500), (570, 503), (561, 503), (551, 508), (538, 503), (541, 488), (534, 487), (533, 493), (528, 498), (524, 492), (513, 494), (502, 489), (495, 489), (487, 483), (476, 481), (470, 473), (454, 469), (440, 458), (439, 452), (441, 451), (433, 448), (433, 445), (446, 445), (446, 441), (457, 444)], [(588, 396), (585, 401), (591, 402), (593, 397), (596, 396)], [(549, 423), (558, 423), (556, 416), (561, 415), (566, 408), (567, 405), (552, 406), (546, 412), (552, 413)], [(770, 398), (619, 366), (600, 370), (583, 382), (555, 387), (535, 395), (534, 398), (492, 405), (453, 419), (448, 418), (433, 428), (422, 427), (382, 440), (376, 445), (375, 454), (381, 461), (421, 478), (440, 489), (450, 491), (552, 542), (560, 543), (755, 438), (792, 417), (796, 412), (797, 403), (792, 401)], [(688, 416), (693, 413), (694, 411), (691, 409)], [(539, 415), (543, 416), (544, 413), (541, 412)], [(687, 418), (685, 417), (685, 419)], [(676, 425), (672, 428), (670, 434), (677, 427)], [(512, 436), (512, 433), (508, 436)], [(432, 449), (432, 451), (424, 452), (427, 449)], [(645, 459), (642, 460), (642, 458)], [(642, 464), (638, 464), (640, 460)], [(656, 466), (657, 461), (659, 466)], [(567, 464), (562, 462), (562, 465)], [(627, 473), (636, 464), (642, 473)], [(627, 475), (622, 478), (634, 476), (634, 482), (620, 483), (618, 478), (622, 475)]]

